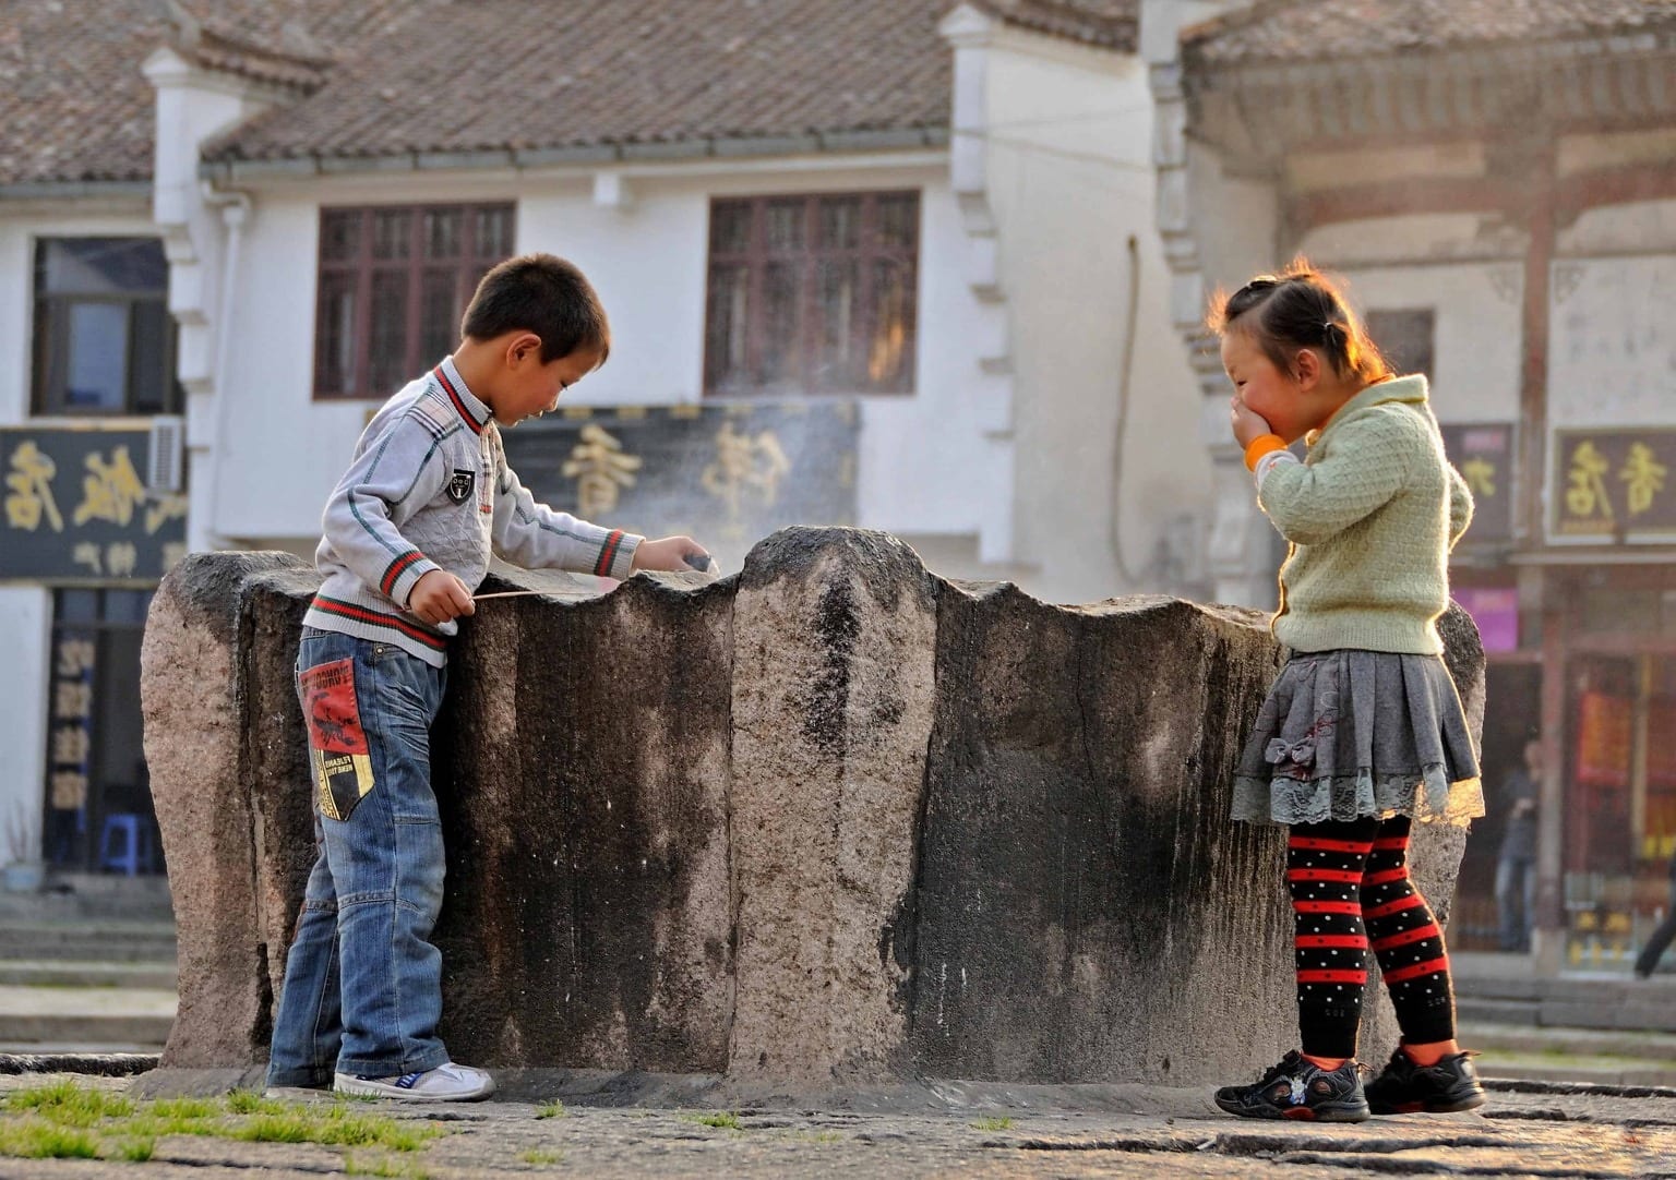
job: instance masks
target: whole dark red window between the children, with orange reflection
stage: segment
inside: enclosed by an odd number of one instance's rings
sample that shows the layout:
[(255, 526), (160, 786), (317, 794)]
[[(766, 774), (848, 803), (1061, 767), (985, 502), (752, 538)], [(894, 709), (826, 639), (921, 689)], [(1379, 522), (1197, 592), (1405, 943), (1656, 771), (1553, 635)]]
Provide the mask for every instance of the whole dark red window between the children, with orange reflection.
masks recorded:
[(918, 193), (712, 201), (704, 392), (913, 392), (918, 255)]

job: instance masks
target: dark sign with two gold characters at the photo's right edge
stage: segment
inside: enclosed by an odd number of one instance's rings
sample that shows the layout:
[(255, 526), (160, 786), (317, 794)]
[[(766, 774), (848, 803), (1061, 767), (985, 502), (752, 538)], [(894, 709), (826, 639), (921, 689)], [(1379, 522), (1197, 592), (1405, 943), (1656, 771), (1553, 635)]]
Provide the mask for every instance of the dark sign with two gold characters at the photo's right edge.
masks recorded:
[(1676, 540), (1676, 429), (1555, 431), (1555, 536)]

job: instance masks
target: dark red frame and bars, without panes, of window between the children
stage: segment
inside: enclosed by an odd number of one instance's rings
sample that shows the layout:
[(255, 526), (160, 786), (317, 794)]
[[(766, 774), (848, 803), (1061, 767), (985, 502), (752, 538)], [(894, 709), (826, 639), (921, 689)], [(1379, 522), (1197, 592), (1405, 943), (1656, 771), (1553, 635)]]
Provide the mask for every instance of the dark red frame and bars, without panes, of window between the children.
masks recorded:
[[(913, 240), (908, 245), (885, 243), (880, 238), (880, 203), (888, 199), (913, 201)], [(826, 246), (820, 241), (820, 215), (823, 201), (860, 201), (860, 226), (855, 246)], [(778, 204), (803, 204), (803, 241), (796, 250), (771, 250), (768, 243), (768, 210)], [(726, 208), (749, 210), (749, 241), (744, 250), (717, 248), (717, 213)], [(856, 189), (856, 191), (823, 191), (823, 193), (768, 193), (754, 196), (716, 196), (711, 198), (706, 265), (706, 313), (704, 313), (704, 396), (706, 397), (773, 397), (804, 394), (868, 394), (868, 396), (912, 396), (915, 389), (915, 365), (918, 359), (918, 280), (920, 280), (920, 246), (923, 243), (923, 194), (920, 189)], [(833, 380), (821, 369), (823, 340), (826, 323), (821, 318), (818, 297), (823, 263), (853, 261), (856, 267), (856, 302), (850, 323), (851, 370), (865, 360), (866, 349), (875, 342), (873, 330), (878, 315), (882, 287), (875, 282), (878, 263), (890, 263), (907, 270), (908, 302), (905, 308), (907, 334), (902, 344), (902, 359), (897, 372), (888, 380)], [(796, 320), (798, 340), (793, 372), (778, 379), (763, 379), (764, 350), (769, 335), (769, 323), (784, 308), (769, 307), (764, 295), (768, 270), (776, 263), (794, 263), (798, 273)], [(746, 272), (746, 327), (744, 327), (744, 364), (742, 374), (731, 367), (727, 357), (717, 350), (717, 273), (721, 270), (744, 268)], [(724, 369), (726, 367), (726, 369)]]

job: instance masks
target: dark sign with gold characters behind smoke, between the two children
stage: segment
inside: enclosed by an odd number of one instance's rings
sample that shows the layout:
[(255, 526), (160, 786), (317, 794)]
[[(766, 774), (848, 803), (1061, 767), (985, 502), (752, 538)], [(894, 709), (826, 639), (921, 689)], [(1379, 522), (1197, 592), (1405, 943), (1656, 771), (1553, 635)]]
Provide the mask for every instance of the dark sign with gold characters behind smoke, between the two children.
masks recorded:
[(786, 525), (853, 523), (858, 417), (826, 399), (568, 406), (501, 437), (536, 499), (737, 556)]

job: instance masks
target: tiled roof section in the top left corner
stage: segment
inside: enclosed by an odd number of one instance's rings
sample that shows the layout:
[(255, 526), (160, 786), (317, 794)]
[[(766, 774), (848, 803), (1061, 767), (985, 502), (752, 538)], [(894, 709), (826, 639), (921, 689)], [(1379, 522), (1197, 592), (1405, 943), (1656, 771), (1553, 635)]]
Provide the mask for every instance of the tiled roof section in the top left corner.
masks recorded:
[(0, 184), (149, 179), (166, 39), (156, 0), (0, 0)]

